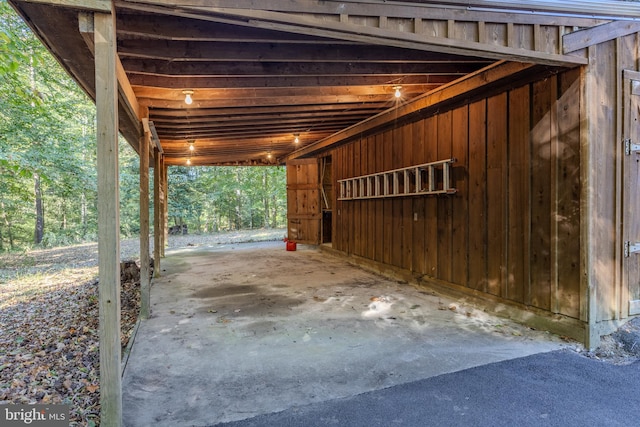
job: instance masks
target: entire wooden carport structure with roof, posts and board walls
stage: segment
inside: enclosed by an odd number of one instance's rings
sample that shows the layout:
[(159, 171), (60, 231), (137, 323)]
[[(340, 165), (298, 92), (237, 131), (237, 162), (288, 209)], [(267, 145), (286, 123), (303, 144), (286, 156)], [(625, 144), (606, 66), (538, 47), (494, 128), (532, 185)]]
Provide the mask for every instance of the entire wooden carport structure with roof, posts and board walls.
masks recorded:
[(10, 3), (98, 108), (108, 425), (118, 131), (141, 159), (142, 277), (149, 162), (156, 262), (169, 166), (285, 163), (290, 238), (590, 347), (640, 314), (635, 2)]

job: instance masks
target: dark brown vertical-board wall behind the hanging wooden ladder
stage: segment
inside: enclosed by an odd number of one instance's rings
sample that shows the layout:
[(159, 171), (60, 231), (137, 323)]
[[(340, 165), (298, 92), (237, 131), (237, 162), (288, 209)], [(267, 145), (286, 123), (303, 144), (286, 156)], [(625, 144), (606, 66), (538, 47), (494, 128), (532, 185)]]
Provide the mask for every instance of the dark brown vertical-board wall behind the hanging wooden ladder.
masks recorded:
[(570, 70), (334, 149), (334, 182), (455, 157), (458, 192), (336, 201), (333, 247), (579, 318), (580, 81)]

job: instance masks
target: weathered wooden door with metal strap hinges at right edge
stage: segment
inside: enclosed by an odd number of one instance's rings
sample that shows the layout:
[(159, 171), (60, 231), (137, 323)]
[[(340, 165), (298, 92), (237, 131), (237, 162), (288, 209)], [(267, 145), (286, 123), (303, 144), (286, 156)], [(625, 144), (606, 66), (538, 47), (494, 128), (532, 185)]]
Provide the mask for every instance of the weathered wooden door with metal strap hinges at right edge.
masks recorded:
[[(628, 314), (640, 314), (640, 73), (625, 71), (623, 159), (623, 292)], [(626, 282), (626, 283), (624, 283)], [(624, 295), (624, 294), (623, 294)]]

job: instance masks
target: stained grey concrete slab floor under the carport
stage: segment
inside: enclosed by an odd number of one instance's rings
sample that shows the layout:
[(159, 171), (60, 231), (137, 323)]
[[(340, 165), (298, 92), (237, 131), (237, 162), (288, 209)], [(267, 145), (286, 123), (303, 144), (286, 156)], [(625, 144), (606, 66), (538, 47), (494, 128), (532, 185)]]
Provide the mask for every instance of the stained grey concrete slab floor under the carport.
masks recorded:
[(167, 252), (127, 426), (210, 426), (556, 350), (556, 336), (282, 242)]

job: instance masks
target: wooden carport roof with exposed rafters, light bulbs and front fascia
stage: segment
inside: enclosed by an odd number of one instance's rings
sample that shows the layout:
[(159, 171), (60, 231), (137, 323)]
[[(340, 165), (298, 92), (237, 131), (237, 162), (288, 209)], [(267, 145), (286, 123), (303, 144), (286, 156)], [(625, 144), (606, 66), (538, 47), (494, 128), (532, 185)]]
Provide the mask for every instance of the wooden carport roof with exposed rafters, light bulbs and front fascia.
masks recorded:
[[(185, 139), (197, 138), (216, 147), (206, 152), (212, 164), (216, 153), (233, 163), (229, 156), (240, 141), (250, 143), (237, 151), (237, 163), (254, 164), (274, 141), (282, 144), (273, 154), (284, 158), (301, 129), (304, 149), (497, 61), (577, 66), (586, 59), (576, 47), (602, 38), (607, 28), (638, 25), (588, 12), (545, 12), (545, 0), (528, 0), (536, 5), (529, 11), (518, 11), (516, 2), (489, 10), (455, 0), (10, 2), (33, 18), (32, 28), (90, 96), (93, 58), (77, 46), (84, 39), (91, 50), (90, 31), (65, 34), (60, 40), (68, 46), (56, 45), (51, 34), (78, 28), (80, 11), (114, 10), (123, 134), (137, 147), (139, 112), (148, 111), (167, 160), (187, 155)], [(625, 13), (633, 7), (625, 5)], [(67, 47), (74, 57), (67, 57)], [(396, 86), (402, 86), (400, 100), (393, 96)], [(191, 105), (184, 102), (186, 90), (194, 91)]]

